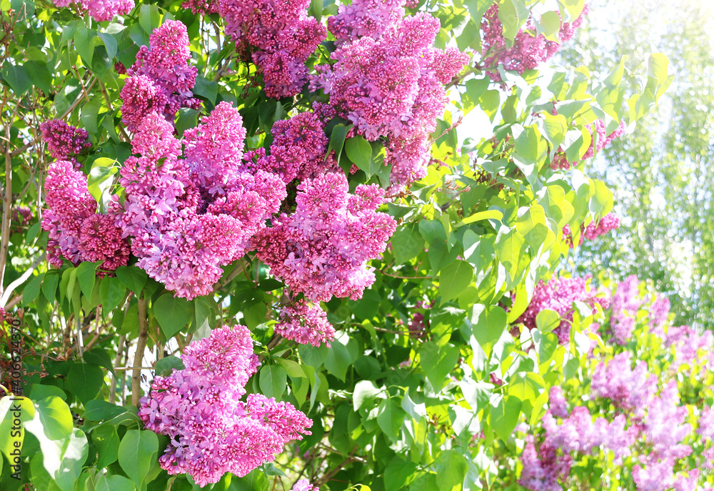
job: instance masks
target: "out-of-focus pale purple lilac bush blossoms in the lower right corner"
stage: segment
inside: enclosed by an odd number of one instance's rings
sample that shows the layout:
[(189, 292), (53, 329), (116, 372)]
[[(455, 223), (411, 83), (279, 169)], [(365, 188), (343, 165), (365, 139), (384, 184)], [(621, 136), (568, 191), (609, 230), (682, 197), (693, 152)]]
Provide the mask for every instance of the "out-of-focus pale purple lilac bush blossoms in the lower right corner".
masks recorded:
[[(561, 490), (580, 456), (611, 452), (612, 460), (603, 457), (611, 462), (607, 465), (631, 464), (630, 477), (638, 491), (701, 489), (702, 470), (714, 467), (714, 410), (702, 404), (696, 392), (687, 404), (680, 385), (687, 380), (706, 383), (714, 367), (714, 336), (668, 325), (668, 302), (648, 296), (636, 277), (617, 285), (612, 302), (610, 324), (616, 312), (625, 311), (638, 323), (638, 337), (628, 339), (625, 347), (621, 332), (605, 332), (603, 340), (615, 355), (588, 355), (601, 357), (589, 387), (583, 387), (590, 392), (585, 397), (589, 403), (569, 411), (563, 390), (550, 390), (542, 435), (538, 440), (526, 437), (519, 484), (533, 491)], [(654, 345), (659, 343), (663, 350), (653, 353), (650, 362), (638, 359), (633, 364), (640, 339), (648, 336), (659, 338)], [(652, 345), (643, 349), (651, 350)], [(650, 367), (651, 362), (656, 367)], [(588, 406), (599, 408), (602, 416), (593, 420)]]

